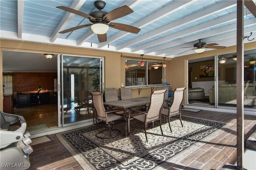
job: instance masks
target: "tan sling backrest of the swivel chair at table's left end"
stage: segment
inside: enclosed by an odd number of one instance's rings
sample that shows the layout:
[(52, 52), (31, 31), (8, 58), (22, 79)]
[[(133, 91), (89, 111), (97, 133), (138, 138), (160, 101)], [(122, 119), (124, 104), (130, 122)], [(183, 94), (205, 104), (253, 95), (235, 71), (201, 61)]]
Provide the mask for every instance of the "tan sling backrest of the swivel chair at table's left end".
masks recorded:
[(92, 103), (97, 114), (97, 118), (106, 121), (106, 110), (103, 105), (103, 97), (100, 92), (90, 92), (92, 94)]

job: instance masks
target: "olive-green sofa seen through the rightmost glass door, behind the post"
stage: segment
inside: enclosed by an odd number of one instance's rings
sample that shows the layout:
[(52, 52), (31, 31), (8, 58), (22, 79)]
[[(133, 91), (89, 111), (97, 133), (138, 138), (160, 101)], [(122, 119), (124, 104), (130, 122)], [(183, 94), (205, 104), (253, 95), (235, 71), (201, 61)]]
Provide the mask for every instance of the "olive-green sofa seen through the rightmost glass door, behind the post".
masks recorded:
[[(215, 101), (215, 86), (208, 90), (210, 103)], [(254, 96), (255, 85), (254, 83), (244, 83), (244, 98)], [(218, 103), (219, 104), (236, 104), (231, 101), (236, 100), (236, 84), (219, 84), (218, 85)]]

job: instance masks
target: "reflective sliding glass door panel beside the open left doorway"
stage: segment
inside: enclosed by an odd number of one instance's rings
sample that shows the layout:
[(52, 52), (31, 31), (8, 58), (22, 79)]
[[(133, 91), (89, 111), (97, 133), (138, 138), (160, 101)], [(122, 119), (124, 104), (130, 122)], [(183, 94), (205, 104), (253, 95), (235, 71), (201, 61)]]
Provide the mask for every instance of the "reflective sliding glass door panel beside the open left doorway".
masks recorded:
[(92, 121), (90, 92), (102, 91), (102, 58), (61, 56), (60, 124)]

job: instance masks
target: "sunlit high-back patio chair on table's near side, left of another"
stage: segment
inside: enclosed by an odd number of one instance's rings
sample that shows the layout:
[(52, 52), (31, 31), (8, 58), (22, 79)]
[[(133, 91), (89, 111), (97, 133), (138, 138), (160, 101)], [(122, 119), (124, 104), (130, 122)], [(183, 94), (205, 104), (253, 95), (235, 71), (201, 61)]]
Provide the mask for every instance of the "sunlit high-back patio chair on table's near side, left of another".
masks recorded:
[(146, 112), (132, 109), (134, 111), (142, 113), (141, 115), (132, 116), (132, 118), (137, 119), (138, 121), (141, 121), (142, 123), (144, 123), (144, 131), (145, 131), (147, 142), (148, 142), (148, 137), (146, 133), (146, 128), (148, 123), (152, 122), (152, 125), (154, 127), (154, 121), (159, 121), (161, 133), (162, 135), (164, 135), (162, 131), (162, 125), (161, 125), (161, 110), (164, 105), (165, 92), (166, 90), (157, 90), (152, 92), (150, 96), (150, 105)]

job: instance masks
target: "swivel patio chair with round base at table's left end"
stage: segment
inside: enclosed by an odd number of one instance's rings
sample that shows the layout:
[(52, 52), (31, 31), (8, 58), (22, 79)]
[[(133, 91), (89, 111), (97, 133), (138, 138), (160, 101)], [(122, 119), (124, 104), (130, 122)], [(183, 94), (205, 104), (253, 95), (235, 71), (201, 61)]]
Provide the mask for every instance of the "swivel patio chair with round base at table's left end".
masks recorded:
[[(113, 129), (113, 124), (114, 124), (114, 121), (119, 119), (124, 119), (124, 117), (114, 114), (116, 110), (112, 110), (112, 111), (105, 110), (103, 105), (103, 97), (100, 92), (90, 92), (90, 94), (92, 95), (92, 103), (94, 106), (94, 111), (96, 111), (96, 119), (99, 119), (106, 123), (106, 128), (96, 133), (96, 137), (106, 139), (106, 138), (114, 138), (120, 135), (121, 131), (118, 129)], [(119, 111), (122, 111), (122, 110), (119, 110)], [(109, 131), (109, 134), (110, 134), (109, 136), (100, 135), (101, 133), (107, 130)], [(111, 131), (115, 131), (116, 134), (112, 135)]]

